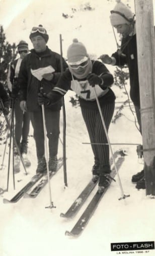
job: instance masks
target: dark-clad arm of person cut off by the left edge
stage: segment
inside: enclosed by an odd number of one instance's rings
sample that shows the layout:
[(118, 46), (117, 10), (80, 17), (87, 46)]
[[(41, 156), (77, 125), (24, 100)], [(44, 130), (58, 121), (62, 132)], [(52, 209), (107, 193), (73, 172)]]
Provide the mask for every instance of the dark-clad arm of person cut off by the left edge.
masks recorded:
[[(0, 82), (0, 110), (3, 111), (5, 115), (9, 114), (9, 95), (5, 90), (3, 84)], [(4, 109), (3, 109), (4, 106)]]

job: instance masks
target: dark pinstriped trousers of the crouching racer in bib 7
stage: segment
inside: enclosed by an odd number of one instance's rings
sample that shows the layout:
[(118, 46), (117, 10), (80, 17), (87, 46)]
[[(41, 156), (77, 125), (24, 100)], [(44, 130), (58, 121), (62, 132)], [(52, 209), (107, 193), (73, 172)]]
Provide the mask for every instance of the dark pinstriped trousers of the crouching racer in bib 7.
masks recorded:
[[(107, 131), (114, 113), (115, 102), (101, 107)], [(87, 126), (91, 143), (108, 143), (99, 110), (83, 109), (82, 114)], [(109, 165), (109, 145), (94, 145), (92, 150), (95, 160), (102, 165)]]

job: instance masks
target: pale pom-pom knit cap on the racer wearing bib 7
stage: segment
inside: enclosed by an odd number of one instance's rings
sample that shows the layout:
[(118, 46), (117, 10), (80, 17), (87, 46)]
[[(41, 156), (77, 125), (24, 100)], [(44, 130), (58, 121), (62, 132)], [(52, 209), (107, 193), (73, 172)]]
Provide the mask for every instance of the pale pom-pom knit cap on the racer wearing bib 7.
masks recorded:
[(67, 59), (70, 65), (80, 65), (88, 59), (88, 53), (83, 43), (79, 42), (76, 38), (72, 40), (67, 50)]

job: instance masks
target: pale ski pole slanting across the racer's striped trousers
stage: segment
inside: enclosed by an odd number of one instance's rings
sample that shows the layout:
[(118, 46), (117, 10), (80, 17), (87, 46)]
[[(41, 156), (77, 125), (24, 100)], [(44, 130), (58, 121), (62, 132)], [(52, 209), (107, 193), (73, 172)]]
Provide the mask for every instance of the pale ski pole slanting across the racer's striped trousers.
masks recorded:
[(103, 115), (102, 115), (102, 110), (101, 110), (101, 106), (100, 106), (100, 103), (99, 103), (99, 99), (98, 99), (98, 96), (97, 96), (97, 93), (96, 93), (95, 87), (93, 87), (93, 88), (94, 88), (94, 93), (95, 93), (95, 97), (96, 97), (96, 101), (97, 101), (98, 109), (99, 109), (99, 112), (100, 112), (100, 116), (101, 116), (102, 124), (103, 124), (104, 131), (105, 131), (105, 134), (106, 134), (106, 137), (107, 137), (107, 140), (108, 140), (109, 148), (110, 148), (110, 151), (111, 151), (111, 155), (112, 155), (113, 163), (114, 163), (115, 170), (116, 170), (116, 173), (117, 173), (117, 176), (118, 176), (118, 182), (119, 182), (119, 186), (120, 186), (121, 194), (122, 194), (122, 196), (121, 196), (121, 198), (119, 198), (119, 200), (121, 200), (121, 199), (125, 199), (126, 197), (129, 197), (130, 195), (125, 195), (125, 194), (124, 194), (123, 187), (122, 187), (122, 183), (121, 183), (121, 180), (120, 180), (120, 176), (119, 176), (119, 173), (118, 173), (118, 170), (117, 170), (117, 166), (116, 166), (116, 162), (115, 162), (114, 154), (113, 154), (112, 147), (111, 147), (111, 144), (110, 144), (110, 140), (109, 140), (109, 136), (108, 136), (108, 131), (107, 131), (107, 128), (106, 128), (106, 124), (105, 124), (105, 121), (104, 121)]

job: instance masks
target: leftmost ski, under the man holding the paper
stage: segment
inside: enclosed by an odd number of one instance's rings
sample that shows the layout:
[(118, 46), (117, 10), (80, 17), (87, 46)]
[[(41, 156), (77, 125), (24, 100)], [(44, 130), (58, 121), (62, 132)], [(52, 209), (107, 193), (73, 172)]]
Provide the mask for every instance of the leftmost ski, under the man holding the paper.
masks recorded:
[(34, 175), (31, 178), (31, 180), (11, 200), (4, 198), (3, 202), (5, 204), (17, 203), (24, 196), (24, 194), (42, 177), (43, 177), (43, 173), (38, 173)]

